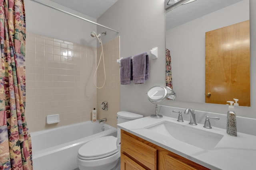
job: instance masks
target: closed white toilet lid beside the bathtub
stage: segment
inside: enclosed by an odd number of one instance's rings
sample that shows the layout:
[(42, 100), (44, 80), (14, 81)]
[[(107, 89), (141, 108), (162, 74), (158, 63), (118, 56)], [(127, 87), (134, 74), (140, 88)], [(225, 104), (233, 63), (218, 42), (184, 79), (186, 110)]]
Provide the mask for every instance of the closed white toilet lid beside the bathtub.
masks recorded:
[(116, 148), (116, 137), (105, 136), (94, 139), (86, 144), (84, 144), (79, 150), (79, 157), (84, 159), (98, 159), (110, 156), (118, 152)]

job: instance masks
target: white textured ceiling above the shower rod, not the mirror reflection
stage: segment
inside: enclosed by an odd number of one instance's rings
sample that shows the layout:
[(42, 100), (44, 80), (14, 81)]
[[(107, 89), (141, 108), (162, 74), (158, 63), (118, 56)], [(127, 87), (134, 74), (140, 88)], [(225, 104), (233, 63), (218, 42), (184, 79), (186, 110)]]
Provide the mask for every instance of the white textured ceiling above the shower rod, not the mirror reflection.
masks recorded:
[(57, 4), (98, 19), (118, 0), (51, 0)]

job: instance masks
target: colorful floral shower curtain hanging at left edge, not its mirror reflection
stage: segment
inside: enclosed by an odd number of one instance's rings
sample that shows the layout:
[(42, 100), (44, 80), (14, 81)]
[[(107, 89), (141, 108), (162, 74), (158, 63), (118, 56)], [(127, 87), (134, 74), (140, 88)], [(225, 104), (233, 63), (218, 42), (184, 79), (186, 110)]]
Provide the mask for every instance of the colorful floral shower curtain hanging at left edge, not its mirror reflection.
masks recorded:
[(23, 0), (0, 0), (0, 169), (32, 170), (25, 119), (26, 23)]

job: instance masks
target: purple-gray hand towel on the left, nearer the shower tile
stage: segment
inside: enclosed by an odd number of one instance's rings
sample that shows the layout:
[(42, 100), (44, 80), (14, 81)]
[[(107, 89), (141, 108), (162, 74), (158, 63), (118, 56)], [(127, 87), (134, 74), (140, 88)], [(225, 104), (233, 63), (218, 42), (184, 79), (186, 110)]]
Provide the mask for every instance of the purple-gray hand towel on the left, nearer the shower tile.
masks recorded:
[(120, 83), (131, 83), (131, 57), (126, 57), (120, 61)]

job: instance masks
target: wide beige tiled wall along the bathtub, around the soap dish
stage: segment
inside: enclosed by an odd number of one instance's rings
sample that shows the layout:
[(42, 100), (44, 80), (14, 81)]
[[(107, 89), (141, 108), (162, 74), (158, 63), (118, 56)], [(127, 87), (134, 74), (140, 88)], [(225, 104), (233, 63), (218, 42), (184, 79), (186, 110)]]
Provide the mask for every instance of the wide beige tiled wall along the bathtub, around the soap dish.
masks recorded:
[[(27, 33), (26, 120), (30, 132), (90, 120), (97, 107), (95, 69), (96, 48)], [(47, 125), (46, 115), (52, 114), (59, 114), (60, 122)]]

